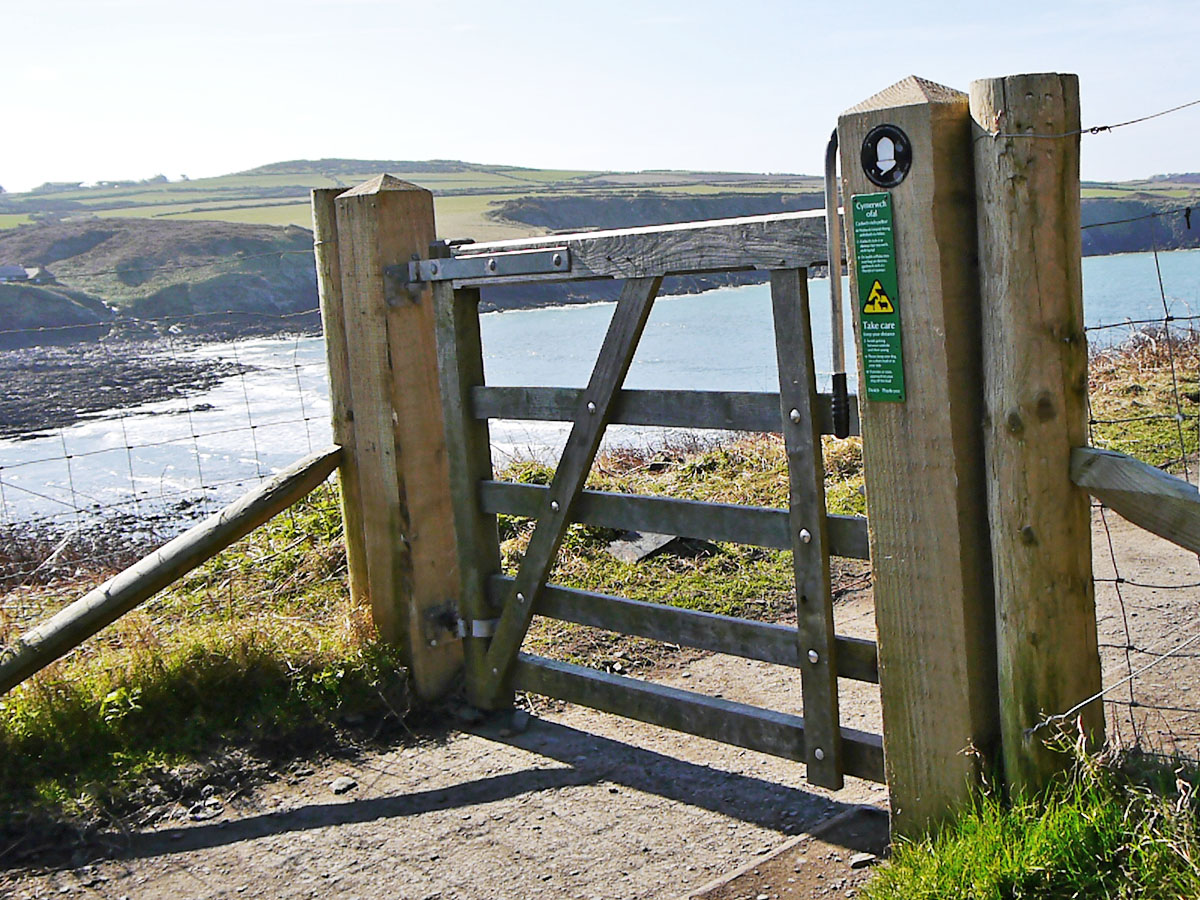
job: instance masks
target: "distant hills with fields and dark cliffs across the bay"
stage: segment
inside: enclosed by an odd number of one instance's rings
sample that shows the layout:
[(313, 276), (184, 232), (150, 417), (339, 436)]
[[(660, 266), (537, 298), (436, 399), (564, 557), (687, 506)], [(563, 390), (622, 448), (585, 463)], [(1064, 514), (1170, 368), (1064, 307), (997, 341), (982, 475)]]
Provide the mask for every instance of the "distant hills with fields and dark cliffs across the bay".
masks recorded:
[[(0, 263), (47, 265), (59, 280), (49, 292), (56, 299), (24, 292), (28, 302), (19, 304), (8, 292), (0, 330), (11, 322), (77, 324), (67, 323), (71, 316), (95, 316), (100, 324), (106, 305), (116, 307), (122, 326), (130, 317), (223, 311), (240, 316), (223, 325), (235, 332), (271, 320), (313, 325), (278, 318), (317, 305), (310, 192), (350, 187), (379, 172), (433, 192), (443, 238), (518, 238), (823, 205), (821, 179), (811, 175), (559, 170), (460, 160), (289, 160), (196, 180), (55, 182), (0, 193)], [(1085, 182), (1081, 198), (1085, 254), (1200, 246), (1200, 211), (1192, 229), (1181, 212), (1200, 206), (1198, 174)], [(671, 289), (725, 281), (691, 278)], [(582, 299), (581, 292), (598, 298), (608, 288), (497, 288), (484, 299), (494, 307), (542, 305)]]

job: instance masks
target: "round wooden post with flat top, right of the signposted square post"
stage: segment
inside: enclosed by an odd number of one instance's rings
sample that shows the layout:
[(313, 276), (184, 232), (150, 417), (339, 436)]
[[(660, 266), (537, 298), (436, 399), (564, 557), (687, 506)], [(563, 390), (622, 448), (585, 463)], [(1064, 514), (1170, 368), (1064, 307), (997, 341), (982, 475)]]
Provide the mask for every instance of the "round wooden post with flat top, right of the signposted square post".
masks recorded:
[[(1070, 481), (1087, 437), (1079, 79), (978, 80), (971, 115), (1004, 773), (1022, 792), (1066, 761), (1036, 726), (1100, 690), (1091, 514)], [(1102, 703), (1081, 715), (1100, 739)]]

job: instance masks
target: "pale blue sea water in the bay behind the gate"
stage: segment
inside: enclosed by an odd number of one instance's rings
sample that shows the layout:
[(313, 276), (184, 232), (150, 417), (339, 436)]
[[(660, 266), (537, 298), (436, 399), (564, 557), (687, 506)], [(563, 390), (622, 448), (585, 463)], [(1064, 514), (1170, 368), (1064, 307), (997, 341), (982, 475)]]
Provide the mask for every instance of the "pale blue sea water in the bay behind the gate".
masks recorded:
[[(815, 278), (809, 290), (818, 386), (827, 389), (829, 282)], [(850, 296), (848, 286), (844, 293)], [(487, 383), (583, 386), (613, 308), (607, 302), (485, 313)], [(1157, 265), (1152, 253), (1087, 258), (1084, 308), (1092, 328), (1200, 314), (1200, 251), (1159, 253)], [(1118, 343), (1133, 328), (1093, 330), (1088, 340)], [(848, 304), (841, 331), (853, 367)], [(188, 354), (236, 361), (250, 371), (186, 398), (109, 410), (31, 439), (0, 440), (0, 521), (50, 517), (70, 527), (116, 512), (211, 510), (329, 443), (319, 337), (252, 338)], [(776, 378), (770, 292), (751, 284), (656, 300), (625, 385), (774, 391)], [(493, 455), (498, 463), (552, 455), (566, 428), (492, 422)], [(607, 436), (610, 443), (641, 445), (662, 438), (662, 430), (629, 427), (610, 428)]]

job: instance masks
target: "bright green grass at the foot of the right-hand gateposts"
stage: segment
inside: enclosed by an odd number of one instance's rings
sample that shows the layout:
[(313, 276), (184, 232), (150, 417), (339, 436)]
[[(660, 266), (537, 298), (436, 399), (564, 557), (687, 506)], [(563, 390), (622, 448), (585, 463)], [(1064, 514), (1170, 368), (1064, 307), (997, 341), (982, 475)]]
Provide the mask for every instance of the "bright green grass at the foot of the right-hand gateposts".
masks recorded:
[(1042, 797), (995, 794), (936, 836), (898, 842), (869, 900), (1200, 896), (1194, 766), (1076, 757)]

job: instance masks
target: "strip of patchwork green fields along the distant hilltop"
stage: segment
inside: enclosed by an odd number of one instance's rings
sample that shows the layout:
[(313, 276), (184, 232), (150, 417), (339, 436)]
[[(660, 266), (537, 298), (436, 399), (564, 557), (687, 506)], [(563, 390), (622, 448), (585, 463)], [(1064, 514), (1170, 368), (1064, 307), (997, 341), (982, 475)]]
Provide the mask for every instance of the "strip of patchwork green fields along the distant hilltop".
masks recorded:
[[(294, 160), (216, 178), (167, 181), (157, 176), (94, 186), (43, 185), (28, 193), (0, 193), (0, 233), (30, 223), (78, 223), (92, 218), (311, 228), (312, 188), (349, 188), (380, 172), (432, 191), (438, 235), (450, 239), (496, 240), (546, 229), (744, 215), (740, 197), (748, 198), (748, 210), (758, 212), (775, 209), (769, 197), (780, 198), (780, 209), (822, 205), (822, 180), (814, 175), (528, 169), (452, 160)], [(800, 196), (803, 203), (797, 203)], [(1087, 181), (1081, 196), (1085, 203), (1128, 205), (1121, 210), (1105, 208), (1097, 214), (1099, 221), (1144, 218), (1148, 211), (1159, 215), (1158, 210), (1200, 203), (1200, 176), (1158, 175), (1120, 184)], [(696, 204), (690, 203), (692, 198)], [(605, 200), (607, 208), (598, 209), (596, 200)], [(644, 209), (632, 209), (635, 202), (644, 202)], [(564, 209), (564, 203), (574, 208)], [(546, 209), (553, 204), (556, 209)], [(659, 209), (662, 204), (680, 205), (664, 212)], [(1086, 210), (1084, 218), (1085, 223), (1097, 221)], [(1182, 227), (1180, 222), (1172, 229), (1178, 232)], [(1128, 245), (1127, 238), (1117, 235), (1112, 238), (1117, 244), (1086, 252), (1140, 248)], [(1156, 241), (1162, 246), (1186, 244), (1186, 236), (1176, 238), (1172, 240), (1164, 233)]]

